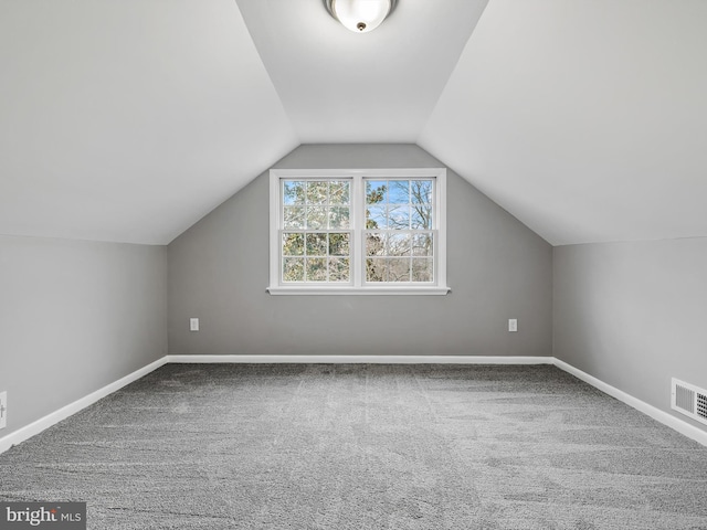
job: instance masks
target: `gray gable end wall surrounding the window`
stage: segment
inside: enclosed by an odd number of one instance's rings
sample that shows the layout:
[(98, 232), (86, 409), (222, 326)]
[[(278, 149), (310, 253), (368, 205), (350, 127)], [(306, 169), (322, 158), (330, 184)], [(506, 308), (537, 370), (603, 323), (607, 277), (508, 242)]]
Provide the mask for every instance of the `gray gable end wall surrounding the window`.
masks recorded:
[[(302, 146), (275, 167), (443, 165), (412, 145), (348, 145)], [(266, 294), (264, 173), (169, 245), (170, 353), (550, 356), (550, 245), (447, 173), (450, 295)]]

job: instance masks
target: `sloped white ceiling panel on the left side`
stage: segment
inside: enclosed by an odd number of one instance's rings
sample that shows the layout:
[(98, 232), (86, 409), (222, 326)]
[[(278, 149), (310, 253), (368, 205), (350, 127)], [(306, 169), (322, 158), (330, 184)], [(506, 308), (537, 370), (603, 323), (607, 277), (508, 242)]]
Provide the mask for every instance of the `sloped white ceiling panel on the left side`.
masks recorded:
[(165, 244), (298, 145), (233, 0), (0, 0), (0, 233)]

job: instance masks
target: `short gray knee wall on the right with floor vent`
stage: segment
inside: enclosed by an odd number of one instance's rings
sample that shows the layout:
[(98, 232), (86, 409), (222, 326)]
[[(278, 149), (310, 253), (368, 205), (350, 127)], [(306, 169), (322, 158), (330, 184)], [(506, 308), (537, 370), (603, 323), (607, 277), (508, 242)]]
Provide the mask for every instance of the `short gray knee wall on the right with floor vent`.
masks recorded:
[(666, 412), (672, 377), (707, 389), (707, 239), (553, 254), (557, 358)]

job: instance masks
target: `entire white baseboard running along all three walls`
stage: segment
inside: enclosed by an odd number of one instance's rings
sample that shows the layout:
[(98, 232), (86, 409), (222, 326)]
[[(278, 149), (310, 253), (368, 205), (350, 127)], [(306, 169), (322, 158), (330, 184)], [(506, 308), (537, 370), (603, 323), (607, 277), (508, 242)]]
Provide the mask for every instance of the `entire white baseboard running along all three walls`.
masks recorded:
[(0, 453), (92, 405), (167, 363), (370, 363), (370, 364), (553, 364), (598, 390), (707, 446), (707, 432), (661, 411), (555, 357), (476, 356), (166, 356), (46, 416), (0, 438)]

